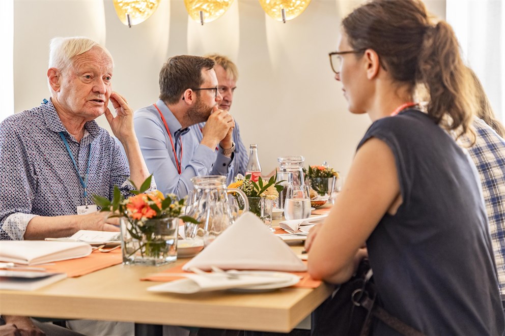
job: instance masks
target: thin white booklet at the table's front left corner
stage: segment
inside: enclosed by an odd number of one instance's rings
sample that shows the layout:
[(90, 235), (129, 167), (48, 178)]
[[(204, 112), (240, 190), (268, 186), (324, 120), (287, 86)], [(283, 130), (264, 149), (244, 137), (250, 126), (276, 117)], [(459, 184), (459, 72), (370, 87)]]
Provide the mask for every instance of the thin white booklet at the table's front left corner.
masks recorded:
[(66, 273), (0, 269), (0, 290), (36, 290), (65, 278)]

